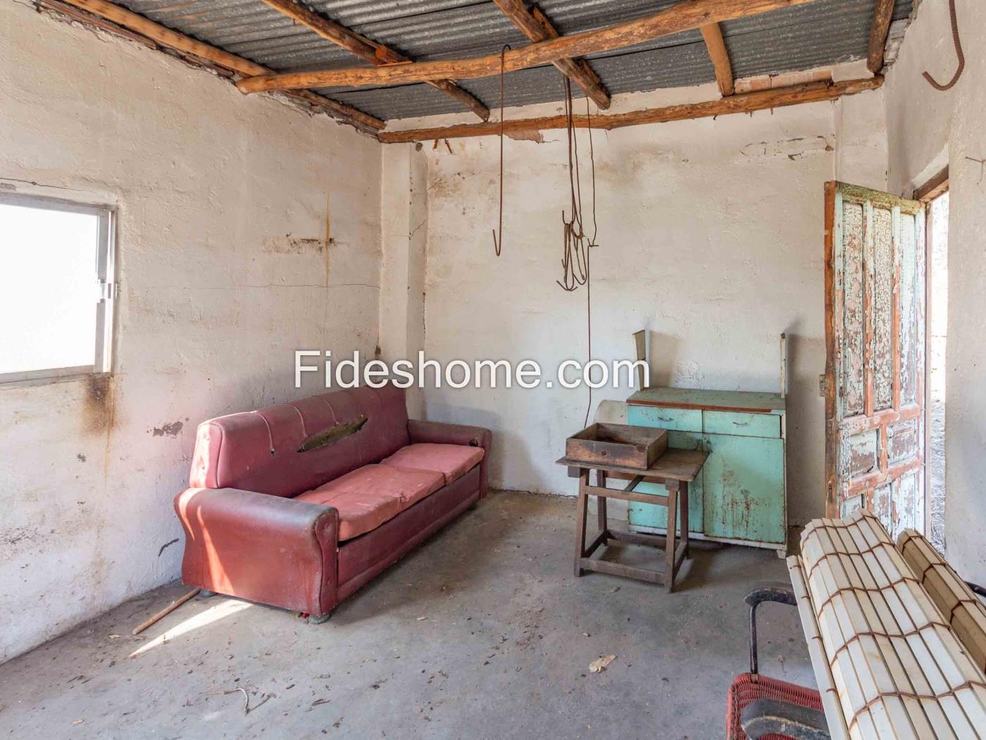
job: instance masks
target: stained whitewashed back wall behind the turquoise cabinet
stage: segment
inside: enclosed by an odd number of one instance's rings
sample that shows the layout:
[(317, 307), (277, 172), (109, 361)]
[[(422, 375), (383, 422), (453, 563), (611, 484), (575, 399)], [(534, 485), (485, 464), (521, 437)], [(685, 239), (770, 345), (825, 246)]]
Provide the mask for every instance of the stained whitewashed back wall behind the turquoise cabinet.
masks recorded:
[[(674, 99), (671, 100), (671, 95)], [(707, 100), (714, 86), (621, 101)], [(778, 337), (790, 339), (791, 520), (823, 513), (823, 184), (836, 175), (885, 184), (880, 94), (753, 115), (594, 134), (599, 247), (593, 253), (593, 355), (632, 357), (651, 332), (658, 384), (750, 391), (779, 387)], [(513, 115), (544, 112), (513, 111)], [(838, 114), (838, 120), (836, 116)], [(881, 131), (880, 131), (881, 133)], [(493, 256), (499, 144), (453, 139), (428, 160), (425, 349), (441, 360), (534, 358), (554, 373), (584, 359), (586, 292), (565, 293), (561, 212), (568, 207), (563, 131), (506, 142), (503, 256)], [(589, 173), (583, 138), (584, 176)], [(843, 154), (837, 160), (837, 151)], [(586, 179), (583, 184), (586, 184)], [(590, 198), (585, 195), (586, 213)], [(600, 390), (600, 399), (628, 391)], [(582, 427), (585, 389), (429, 390), (430, 418), (495, 432), (494, 485), (570, 493), (554, 465)]]

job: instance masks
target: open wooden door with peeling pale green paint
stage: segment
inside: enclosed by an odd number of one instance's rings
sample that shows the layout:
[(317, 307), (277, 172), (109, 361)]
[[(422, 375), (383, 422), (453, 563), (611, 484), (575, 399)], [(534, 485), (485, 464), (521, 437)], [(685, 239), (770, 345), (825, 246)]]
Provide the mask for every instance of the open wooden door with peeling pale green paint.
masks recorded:
[(923, 532), (925, 239), (917, 201), (825, 185), (826, 515)]

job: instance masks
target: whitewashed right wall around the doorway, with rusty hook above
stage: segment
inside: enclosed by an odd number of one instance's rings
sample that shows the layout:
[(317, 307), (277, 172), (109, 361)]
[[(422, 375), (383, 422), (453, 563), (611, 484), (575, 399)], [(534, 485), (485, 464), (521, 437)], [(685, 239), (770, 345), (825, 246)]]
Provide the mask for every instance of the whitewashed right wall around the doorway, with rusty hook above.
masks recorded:
[(965, 71), (955, 70), (946, 0), (924, 0), (886, 78), (889, 186), (910, 195), (946, 165), (950, 171), (946, 549), (965, 578), (986, 581), (986, 4), (956, 0)]

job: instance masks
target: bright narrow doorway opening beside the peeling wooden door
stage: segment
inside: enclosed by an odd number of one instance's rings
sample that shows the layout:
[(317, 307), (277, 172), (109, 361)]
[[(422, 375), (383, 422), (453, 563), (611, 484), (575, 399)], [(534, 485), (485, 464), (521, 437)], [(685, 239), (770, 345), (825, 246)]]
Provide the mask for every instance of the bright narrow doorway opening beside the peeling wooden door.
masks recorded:
[(949, 192), (928, 204), (928, 539), (945, 553), (946, 343), (949, 333)]

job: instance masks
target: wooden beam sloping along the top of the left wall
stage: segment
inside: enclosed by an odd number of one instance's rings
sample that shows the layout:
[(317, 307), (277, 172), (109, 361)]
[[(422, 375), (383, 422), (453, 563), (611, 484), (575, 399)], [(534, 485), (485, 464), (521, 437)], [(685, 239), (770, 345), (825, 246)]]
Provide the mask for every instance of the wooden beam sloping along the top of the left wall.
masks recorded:
[[(255, 75), (271, 74), (271, 70), (242, 56), (231, 54), (221, 48), (212, 46), (208, 43), (179, 34), (160, 24), (144, 18), (144, 16), (131, 13), (125, 8), (121, 8), (106, 0), (61, 0), (61, 3), (74, 6), (98, 19), (109, 21), (116, 26), (133, 32), (141, 37), (146, 37), (156, 44), (174, 49), (182, 54), (190, 55), (199, 60), (204, 60), (210, 65), (216, 65), (222, 69), (230, 70), (245, 77)], [(52, 7), (56, 7), (52, 4)], [(352, 123), (357, 128), (366, 131), (376, 132), (386, 125), (380, 118), (374, 117), (369, 113), (360, 111), (345, 103), (339, 103), (329, 98), (325, 98), (308, 90), (299, 90), (289, 93), (293, 98), (305, 101), (306, 103), (317, 106), (328, 111), (337, 118), (347, 123)]]

